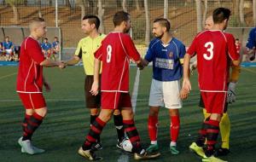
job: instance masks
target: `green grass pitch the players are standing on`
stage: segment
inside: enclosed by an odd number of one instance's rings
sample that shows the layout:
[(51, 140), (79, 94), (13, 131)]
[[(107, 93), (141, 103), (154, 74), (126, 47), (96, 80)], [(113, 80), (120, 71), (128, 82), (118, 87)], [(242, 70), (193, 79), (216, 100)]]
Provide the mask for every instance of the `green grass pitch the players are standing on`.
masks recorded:
[[(148, 139), (148, 94), (151, 84), (152, 67), (147, 67), (140, 75), (137, 95), (136, 124), (143, 146)], [(44, 75), (52, 91), (44, 92), (49, 108), (44, 123), (33, 136), (33, 143), (46, 149), (46, 153), (26, 155), (20, 153), (17, 143), (21, 136), (21, 121), (24, 108), (15, 92), (17, 67), (0, 67), (0, 162), (79, 162), (86, 161), (77, 153), (89, 130), (89, 111), (84, 108), (84, 69), (83, 67), (44, 68)], [(131, 91), (137, 69), (131, 67)], [(199, 91), (196, 75), (192, 79), (192, 92), (183, 101), (180, 111), (181, 129), (177, 146), (180, 154), (169, 152), (169, 118), (165, 108), (160, 110), (158, 140), (161, 156), (148, 161), (201, 161), (189, 152), (189, 144), (195, 140), (203, 119), (197, 107)], [(237, 85), (237, 101), (229, 107), (231, 120), (230, 151), (224, 157), (232, 162), (256, 161), (256, 67), (241, 69)], [(106, 162), (134, 161), (129, 153), (122, 153), (116, 147), (116, 131), (111, 120), (102, 132), (103, 149), (97, 153)]]

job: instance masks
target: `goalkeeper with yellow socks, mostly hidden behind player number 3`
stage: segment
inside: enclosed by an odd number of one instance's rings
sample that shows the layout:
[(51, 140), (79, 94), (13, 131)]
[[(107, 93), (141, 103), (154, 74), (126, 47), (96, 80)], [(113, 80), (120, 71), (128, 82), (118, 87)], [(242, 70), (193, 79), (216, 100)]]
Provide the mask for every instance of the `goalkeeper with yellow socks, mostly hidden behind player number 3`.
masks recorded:
[[(206, 24), (205, 24), (205, 30), (211, 30), (213, 26), (213, 20), (212, 20), (212, 16), (209, 16), (206, 20)], [(236, 52), (238, 54), (240, 54), (240, 43), (239, 43), (239, 39), (237, 40), (236, 38)], [(195, 68), (197, 67), (197, 62), (193, 62), (192, 66), (190, 69), (195, 70)], [(228, 110), (228, 103), (232, 103), (236, 101), (236, 83), (238, 81), (239, 75), (240, 75), (240, 71), (241, 71), (241, 66), (231, 66), (231, 76), (230, 76), (230, 83), (229, 83), (229, 88), (228, 88), (228, 92), (227, 92), (227, 103), (225, 103), (224, 106), (224, 113), (223, 116), (220, 120), (219, 123), (219, 130), (220, 130), (220, 135), (221, 135), (221, 147), (218, 148), (216, 150), (215, 155), (216, 156), (222, 156), (222, 155), (227, 155), (228, 153), (230, 153), (230, 118), (229, 115), (227, 113)], [(202, 107), (203, 109), (203, 114), (205, 117), (205, 120), (207, 120), (210, 116), (210, 113), (207, 113), (207, 110), (205, 109), (205, 104), (204, 101), (202, 101), (202, 97), (200, 97), (200, 101), (199, 101), (199, 107)], [(197, 146), (201, 146), (202, 141), (205, 141), (206, 136), (202, 136), (201, 134), (199, 134), (198, 139), (196, 142), (193, 142), (189, 148), (192, 150), (195, 150), (196, 152), (196, 148)], [(201, 146), (202, 147), (202, 146)]]

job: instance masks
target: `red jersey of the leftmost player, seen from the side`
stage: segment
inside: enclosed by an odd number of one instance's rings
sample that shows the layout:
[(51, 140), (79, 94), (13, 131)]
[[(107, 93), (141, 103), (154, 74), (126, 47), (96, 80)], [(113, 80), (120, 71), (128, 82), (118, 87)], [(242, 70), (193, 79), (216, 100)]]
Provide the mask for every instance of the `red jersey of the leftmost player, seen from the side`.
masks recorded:
[(42, 49), (37, 40), (26, 38), (20, 46), (20, 64), (17, 76), (17, 92), (42, 93), (44, 61)]

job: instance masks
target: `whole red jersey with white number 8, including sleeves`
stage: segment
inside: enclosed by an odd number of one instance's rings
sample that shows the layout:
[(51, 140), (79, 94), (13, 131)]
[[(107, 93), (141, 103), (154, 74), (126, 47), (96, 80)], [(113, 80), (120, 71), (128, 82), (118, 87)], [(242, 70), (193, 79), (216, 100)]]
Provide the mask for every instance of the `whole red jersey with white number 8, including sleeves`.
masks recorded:
[(95, 57), (102, 61), (102, 91), (128, 92), (130, 59), (140, 59), (131, 37), (123, 32), (110, 32)]

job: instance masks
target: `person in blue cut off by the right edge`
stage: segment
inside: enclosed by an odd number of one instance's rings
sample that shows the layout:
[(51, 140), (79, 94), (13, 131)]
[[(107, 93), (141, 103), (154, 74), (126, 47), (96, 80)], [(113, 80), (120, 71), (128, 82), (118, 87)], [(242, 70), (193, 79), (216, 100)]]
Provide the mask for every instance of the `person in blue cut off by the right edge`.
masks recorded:
[(254, 61), (256, 53), (256, 27), (254, 27), (250, 32), (247, 39), (247, 54), (249, 61)]

